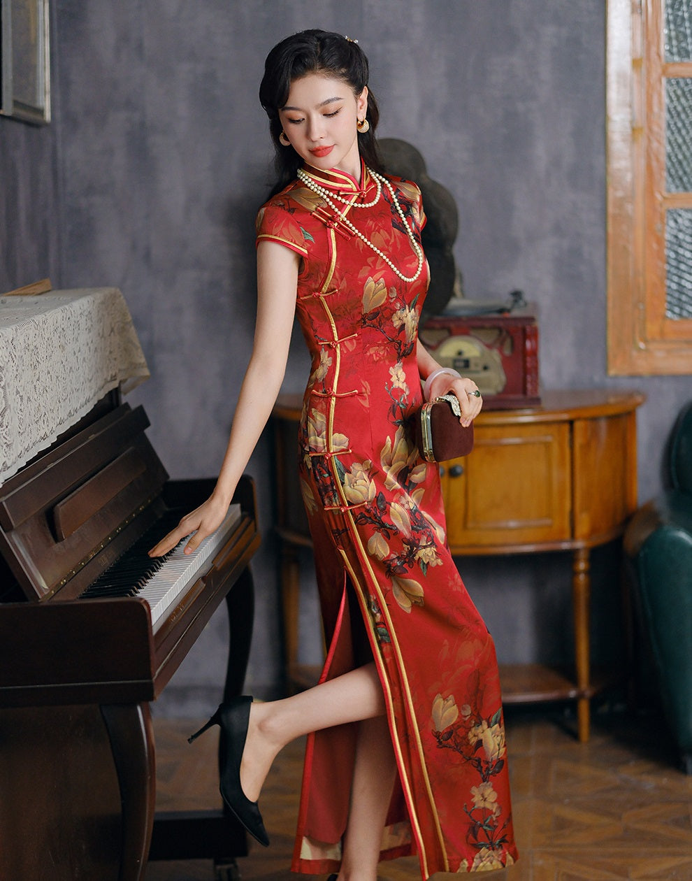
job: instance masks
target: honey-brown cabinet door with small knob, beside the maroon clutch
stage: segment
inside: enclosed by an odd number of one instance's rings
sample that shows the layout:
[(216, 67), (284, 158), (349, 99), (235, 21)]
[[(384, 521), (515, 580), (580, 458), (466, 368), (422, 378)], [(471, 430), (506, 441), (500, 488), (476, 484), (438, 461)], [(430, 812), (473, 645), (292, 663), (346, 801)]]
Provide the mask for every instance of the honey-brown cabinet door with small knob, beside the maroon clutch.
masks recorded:
[(445, 463), (453, 553), (507, 551), (571, 538), (570, 425), (475, 426), (475, 446)]

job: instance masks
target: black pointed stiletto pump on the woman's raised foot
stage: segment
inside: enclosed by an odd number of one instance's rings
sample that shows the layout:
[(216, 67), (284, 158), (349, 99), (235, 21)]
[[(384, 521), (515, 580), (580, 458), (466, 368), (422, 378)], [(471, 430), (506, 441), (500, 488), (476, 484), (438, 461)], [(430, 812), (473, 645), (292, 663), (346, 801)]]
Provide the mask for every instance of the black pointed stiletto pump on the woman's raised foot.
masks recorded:
[(212, 725), (221, 729), (219, 741), (219, 764), (221, 766), (219, 790), (226, 806), (239, 823), (265, 848), (269, 847), (269, 835), (264, 828), (257, 802), (251, 802), (240, 786), (240, 759), (243, 757), (247, 726), (250, 722), (250, 705), (253, 699), (247, 695), (221, 704), (206, 725), (188, 737), (188, 744)]

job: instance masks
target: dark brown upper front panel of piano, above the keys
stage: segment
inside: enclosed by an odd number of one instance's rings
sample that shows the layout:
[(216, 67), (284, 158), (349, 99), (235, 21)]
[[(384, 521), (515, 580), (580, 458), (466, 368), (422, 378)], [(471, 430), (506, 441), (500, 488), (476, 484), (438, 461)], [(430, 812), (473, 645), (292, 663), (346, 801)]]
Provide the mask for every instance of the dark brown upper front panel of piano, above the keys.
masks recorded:
[(160, 514), (147, 426), (123, 403), (0, 487), (0, 554), (27, 599), (78, 596)]

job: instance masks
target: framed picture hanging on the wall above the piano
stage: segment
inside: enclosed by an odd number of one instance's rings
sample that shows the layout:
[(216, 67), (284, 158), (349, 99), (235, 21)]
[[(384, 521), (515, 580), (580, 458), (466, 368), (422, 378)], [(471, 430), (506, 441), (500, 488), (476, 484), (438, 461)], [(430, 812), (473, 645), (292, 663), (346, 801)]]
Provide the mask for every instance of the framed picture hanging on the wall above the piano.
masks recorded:
[(0, 0), (0, 113), (50, 122), (48, 0)]

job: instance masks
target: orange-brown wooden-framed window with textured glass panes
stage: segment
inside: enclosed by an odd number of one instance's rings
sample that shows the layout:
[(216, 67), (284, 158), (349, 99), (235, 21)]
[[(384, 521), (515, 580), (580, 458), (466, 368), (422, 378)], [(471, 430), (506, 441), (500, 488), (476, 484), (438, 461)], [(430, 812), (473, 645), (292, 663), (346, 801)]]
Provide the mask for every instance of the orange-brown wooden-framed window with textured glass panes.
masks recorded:
[(692, 3), (607, 3), (610, 374), (692, 373)]

